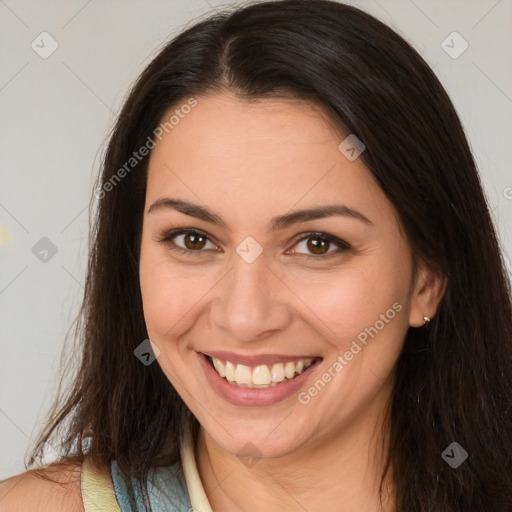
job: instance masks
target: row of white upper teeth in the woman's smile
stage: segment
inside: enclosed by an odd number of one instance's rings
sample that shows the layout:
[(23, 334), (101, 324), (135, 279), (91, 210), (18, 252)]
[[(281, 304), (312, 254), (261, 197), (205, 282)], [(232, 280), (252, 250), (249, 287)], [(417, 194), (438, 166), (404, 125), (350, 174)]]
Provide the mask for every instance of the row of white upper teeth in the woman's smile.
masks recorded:
[(230, 361), (223, 363), (216, 357), (212, 357), (212, 362), (217, 373), (233, 384), (248, 388), (267, 388), (301, 374), (311, 366), (313, 359), (276, 363), (271, 367), (266, 364), (251, 367), (243, 364), (235, 365)]

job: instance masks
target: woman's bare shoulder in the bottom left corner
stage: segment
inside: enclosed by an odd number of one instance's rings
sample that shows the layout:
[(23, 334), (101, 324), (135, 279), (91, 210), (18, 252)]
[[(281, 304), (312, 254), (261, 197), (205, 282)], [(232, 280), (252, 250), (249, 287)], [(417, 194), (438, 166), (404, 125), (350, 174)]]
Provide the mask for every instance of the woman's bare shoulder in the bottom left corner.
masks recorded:
[(83, 512), (81, 463), (56, 463), (0, 482), (0, 512)]

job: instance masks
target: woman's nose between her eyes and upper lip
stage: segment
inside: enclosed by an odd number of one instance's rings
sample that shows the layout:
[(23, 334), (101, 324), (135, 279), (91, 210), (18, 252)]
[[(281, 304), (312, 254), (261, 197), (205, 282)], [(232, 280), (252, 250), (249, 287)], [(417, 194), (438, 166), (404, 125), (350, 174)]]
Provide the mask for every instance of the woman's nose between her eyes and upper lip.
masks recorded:
[(231, 271), (216, 287), (212, 300), (212, 324), (225, 336), (239, 341), (258, 341), (285, 329), (292, 310), (286, 286), (261, 254), (252, 263), (238, 255)]

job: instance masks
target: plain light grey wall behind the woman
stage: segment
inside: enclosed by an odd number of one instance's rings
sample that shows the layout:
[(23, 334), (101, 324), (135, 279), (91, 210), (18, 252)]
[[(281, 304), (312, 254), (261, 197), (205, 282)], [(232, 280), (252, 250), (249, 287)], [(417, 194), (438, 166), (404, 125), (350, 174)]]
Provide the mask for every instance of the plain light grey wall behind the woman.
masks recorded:
[[(447, 88), (510, 269), (511, 0), (347, 3), (394, 27)], [(159, 47), (223, 5), (230, 3), (0, 0), (0, 479), (24, 470), (56, 391), (83, 292), (88, 201), (116, 112)], [(453, 31), (469, 44), (457, 58), (457, 36), (444, 43), (452, 56), (441, 46)], [(46, 59), (31, 47), (51, 49), (42, 32), (58, 43)], [(43, 237), (54, 255), (36, 245)]]

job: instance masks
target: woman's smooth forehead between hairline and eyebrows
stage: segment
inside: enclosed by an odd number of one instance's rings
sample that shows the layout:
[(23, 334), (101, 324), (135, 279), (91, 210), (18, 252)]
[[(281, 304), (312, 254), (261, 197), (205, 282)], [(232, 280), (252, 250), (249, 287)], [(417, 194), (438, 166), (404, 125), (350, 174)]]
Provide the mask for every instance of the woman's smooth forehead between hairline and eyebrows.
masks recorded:
[(195, 100), (152, 150), (147, 202), (173, 195), (231, 216), (340, 201), (370, 214), (389, 209), (361, 159), (340, 152), (346, 134), (318, 104), (231, 94)]

